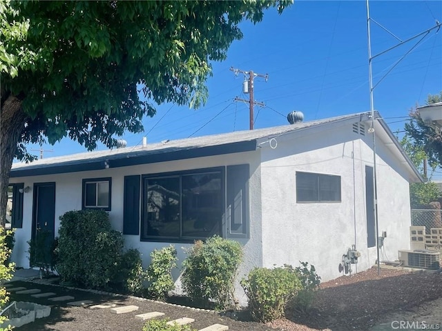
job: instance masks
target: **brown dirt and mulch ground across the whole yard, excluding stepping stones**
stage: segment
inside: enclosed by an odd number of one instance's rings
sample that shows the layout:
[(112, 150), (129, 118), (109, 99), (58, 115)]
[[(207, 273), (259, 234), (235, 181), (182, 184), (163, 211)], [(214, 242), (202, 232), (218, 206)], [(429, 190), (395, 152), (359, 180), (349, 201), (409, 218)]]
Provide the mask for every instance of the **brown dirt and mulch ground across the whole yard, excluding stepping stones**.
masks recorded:
[[(15, 282), (30, 288), (25, 282)], [(234, 314), (233, 319), (215, 312), (192, 310), (177, 305), (157, 303), (133, 297), (113, 297), (53, 285), (32, 284), (59, 295), (72, 295), (75, 300), (91, 300), (96, 303), (112, 302), (116, 305), (137, 305), (139, 310), (127, 314), (113, 314), (109, 310), (91, 310), (88, 307), (68, 307), (66, 304), (52, 306), (50, 317), (35, 323), (23, 325), (17, 330), (39, 331), (101, 331), (101, 330), (142, 330), (143, 321), (135, 314), (164, 312), (164, 318), (195, 319), (193, 328), (200, 330), (213, 323), (229, 326), (229, 330), (397, 330), (400, 321), (416, 321), (439, 325), (442, 330), (442, 275), (435, 272), (406, 272), (404, 270), (376, 269), (340, 277), (321, 284), (316, 302), (308, 312), (287, 308), (286, 318), (266, 325), (247, 320), (247, 312)], [(30, 301), (26, 294), (12, 294), (12, 300)], [(32, 301), (48, 304), (47, 299)], [(396, 323), (397, 322), (397, 323)], [(393, 323), (393, 324), (392, 324)], [(396, 323), (396, 324), (394, 324)], [(410, 330), (410, 328), (409, 328)]]

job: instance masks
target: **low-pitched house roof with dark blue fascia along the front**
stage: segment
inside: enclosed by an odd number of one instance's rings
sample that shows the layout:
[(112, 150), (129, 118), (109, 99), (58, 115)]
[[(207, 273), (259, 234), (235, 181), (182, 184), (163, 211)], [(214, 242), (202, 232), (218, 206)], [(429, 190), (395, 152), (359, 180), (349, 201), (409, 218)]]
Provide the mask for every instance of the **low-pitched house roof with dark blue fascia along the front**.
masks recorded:
[[(422, 179), (412, 161), (403, 152), (396, 137), (392, 134), (387, 124), (375, 113), (376, 123), (381, 123), (387, 137), (396, 146), (399, 155), (412, 168), (416, 177)], [(329, 119), (299, 122), (287, 126), (276, 126), (256, 130), (229, 132), (224, 134), (212, 134), (209, 136), (178, 139), (174, 141), (162, 141), (160, 143), (148, 143), (146, 146), (133, 146), (115, 148), (113, 150), (100, 150), (66, 155), (63, 157), (51, 157), (39, 159), (32, 163), (13, 163), (10, 177), (37, 176), (42, 174), (59, 174), (66, 172), (78, 172), (87, 170), (100, 170), (104, 168), (118, 168), (127, 165), (144, 163), (157, 163), (180, 159), (192, 159), (211, 155), (231, 154), (236, 152), (248, 152), (256, 150), (260, 143), (273, 137), (291, 134), (309, 128), (320, 128), (329, 123), (340, 121), (367, 121), (369, 113), (349, 114)]]

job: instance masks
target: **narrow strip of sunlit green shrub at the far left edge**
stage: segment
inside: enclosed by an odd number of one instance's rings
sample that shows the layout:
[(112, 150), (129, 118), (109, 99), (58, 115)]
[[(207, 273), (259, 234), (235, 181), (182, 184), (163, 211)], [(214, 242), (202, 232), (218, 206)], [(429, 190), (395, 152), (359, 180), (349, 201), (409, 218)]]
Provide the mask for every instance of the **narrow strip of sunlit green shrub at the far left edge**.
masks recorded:
[[(12, 231), (6, 231), (0, 228), (0, 283), (3, 281), (9, 281), (12, 278), (12, 272), (14, 271), (14, 263), (6, 263), (9, 260), (11, 249), (8, 248), (8, 237), (11, 236)], [(0, 310), (6, 307), (9, 301), (8, 292), (4, 286), (0, 286)], [(6, 316), (0, 316), (0, 323), (7, 321)], [(12, 330), (5, 327), (0, 328), (0, 331)]]

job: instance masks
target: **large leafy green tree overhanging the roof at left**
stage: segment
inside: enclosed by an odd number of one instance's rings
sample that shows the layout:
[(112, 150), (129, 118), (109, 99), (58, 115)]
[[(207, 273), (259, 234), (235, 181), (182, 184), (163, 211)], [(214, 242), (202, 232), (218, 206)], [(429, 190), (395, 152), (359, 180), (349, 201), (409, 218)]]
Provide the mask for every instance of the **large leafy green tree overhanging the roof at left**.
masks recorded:
[(0, 0), (0, 220), (13, 158), (32, 159), (26, 143), (112, 147), (142, 132), (153, 104), (197, 108), (211, 61), (242, 38), (238, 24), (289, 4)]

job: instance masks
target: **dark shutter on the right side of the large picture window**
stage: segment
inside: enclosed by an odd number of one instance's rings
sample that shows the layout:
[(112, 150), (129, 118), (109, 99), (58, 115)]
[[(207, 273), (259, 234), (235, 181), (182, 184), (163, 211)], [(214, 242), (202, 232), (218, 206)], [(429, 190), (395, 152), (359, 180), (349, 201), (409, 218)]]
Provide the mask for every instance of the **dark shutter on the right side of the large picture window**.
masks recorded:
[(227, 237), (249, 235), (249, 165), (227, 166)]

